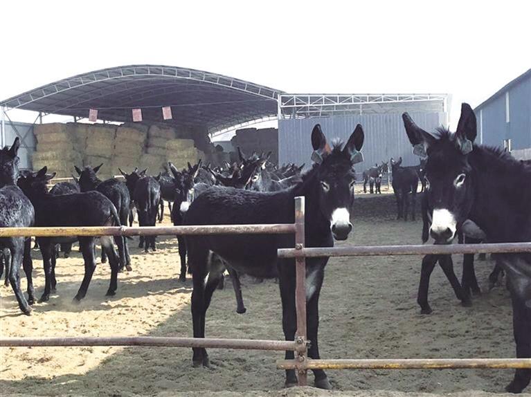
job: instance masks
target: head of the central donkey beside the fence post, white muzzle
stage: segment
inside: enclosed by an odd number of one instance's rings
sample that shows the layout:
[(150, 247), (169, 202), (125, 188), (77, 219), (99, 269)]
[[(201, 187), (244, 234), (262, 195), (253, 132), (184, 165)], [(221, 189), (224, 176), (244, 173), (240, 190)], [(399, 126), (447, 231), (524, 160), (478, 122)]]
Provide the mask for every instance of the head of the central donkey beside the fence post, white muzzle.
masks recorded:
[(319, 207), (330, 219), (334, 239), (345, 240), (352, 230), (350, 208), (354, 203), (354, 164), (363, 161), (360, 150), (363, 146), (363, 129), (358, 124), (348, 138), (345, 147), (336, 143), (333, 149), (327, 144), (321, 126), (316, 124), (312, 131), (312, 160), (316, 163)]

